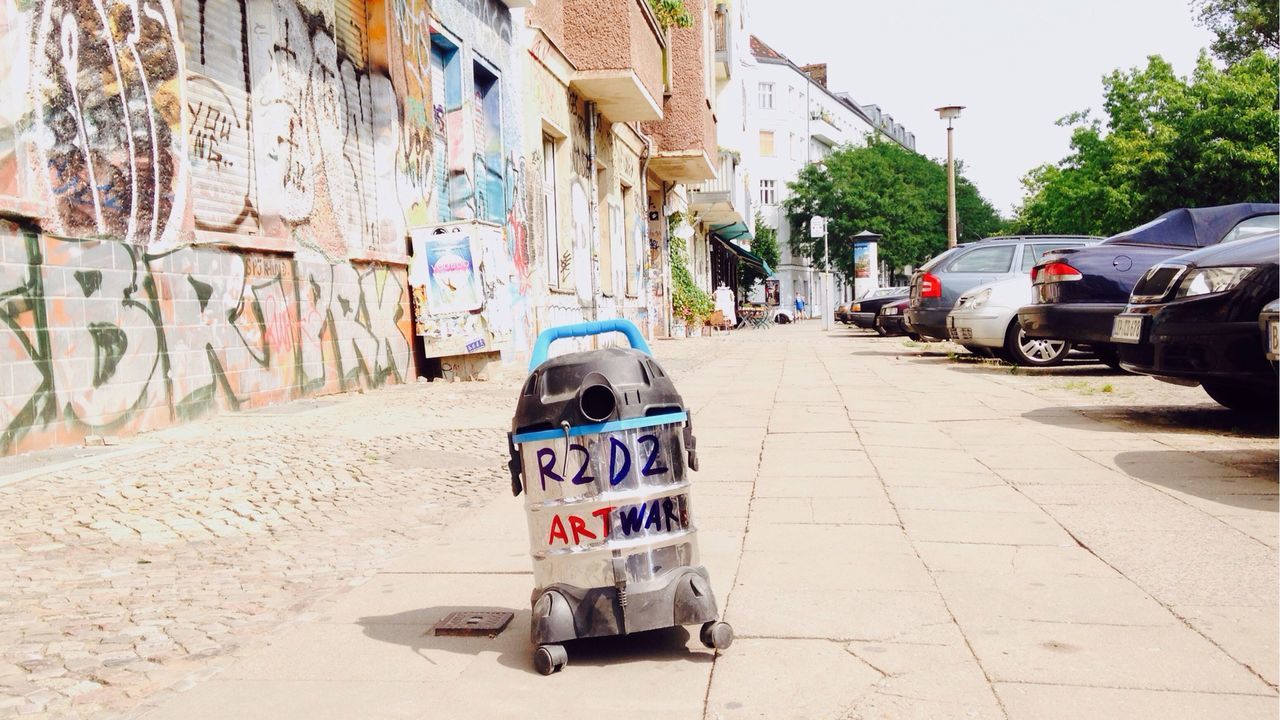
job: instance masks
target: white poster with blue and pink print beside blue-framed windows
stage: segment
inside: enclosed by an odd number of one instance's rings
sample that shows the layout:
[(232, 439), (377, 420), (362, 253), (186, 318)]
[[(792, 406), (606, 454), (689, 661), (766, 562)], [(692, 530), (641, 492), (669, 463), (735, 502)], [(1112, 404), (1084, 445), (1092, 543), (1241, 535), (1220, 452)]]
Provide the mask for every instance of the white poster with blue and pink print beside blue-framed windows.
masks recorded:
[(425, 288), (428, 314), (479, 310), (484, 304), (484, 291), (475, 263), (480, 255), (475, 236), (470, 232), (415, 229), (412, 238), (413, 261), (408, 281), (411, 286)]

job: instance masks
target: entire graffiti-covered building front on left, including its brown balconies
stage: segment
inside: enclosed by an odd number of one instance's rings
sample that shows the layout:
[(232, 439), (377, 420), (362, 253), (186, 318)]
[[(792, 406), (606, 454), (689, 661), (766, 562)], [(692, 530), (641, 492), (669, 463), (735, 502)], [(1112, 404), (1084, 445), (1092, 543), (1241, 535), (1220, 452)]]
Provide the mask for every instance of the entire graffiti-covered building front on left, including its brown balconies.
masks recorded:
[(0, 452), (664, 327), (710, 9), (0, 5)]

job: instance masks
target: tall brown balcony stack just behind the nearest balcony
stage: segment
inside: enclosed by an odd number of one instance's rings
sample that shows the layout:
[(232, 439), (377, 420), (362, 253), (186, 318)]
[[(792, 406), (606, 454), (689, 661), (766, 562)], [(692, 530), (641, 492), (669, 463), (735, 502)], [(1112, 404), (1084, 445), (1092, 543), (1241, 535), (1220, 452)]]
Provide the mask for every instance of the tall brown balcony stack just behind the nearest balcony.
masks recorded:
[(694, 17), (691, 27), (672, 28), (668, 47), (672, 69), (671, 92), (663, 100), (662, 120), (644, 123), (644, 132), (657, 150), (649, 169), (669, 182), (694, 183), (716, 178), (716, 114), (707, 87), (713, 69), (707, 67), (704, 33), (710, 17), (704, 0), (685, 0)]

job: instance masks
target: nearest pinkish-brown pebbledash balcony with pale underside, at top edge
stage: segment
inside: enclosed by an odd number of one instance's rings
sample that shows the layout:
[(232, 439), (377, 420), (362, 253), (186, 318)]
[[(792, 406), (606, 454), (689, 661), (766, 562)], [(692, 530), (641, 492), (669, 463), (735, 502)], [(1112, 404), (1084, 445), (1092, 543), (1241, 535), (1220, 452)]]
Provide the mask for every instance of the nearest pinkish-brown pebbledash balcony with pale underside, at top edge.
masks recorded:
[(564, 0), (558, 12), (572, 87), (613, 122), (662, 119), (666, 42), (649, 4)]

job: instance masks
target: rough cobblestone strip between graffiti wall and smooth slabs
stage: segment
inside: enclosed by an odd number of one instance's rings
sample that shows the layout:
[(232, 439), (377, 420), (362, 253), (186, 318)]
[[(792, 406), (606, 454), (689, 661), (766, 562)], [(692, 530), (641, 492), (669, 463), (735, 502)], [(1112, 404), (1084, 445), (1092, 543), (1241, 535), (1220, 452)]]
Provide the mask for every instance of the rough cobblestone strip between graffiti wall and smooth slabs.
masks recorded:
[(0, 715), (128, 708), (358, 584), (507, 483), (516, 380), (223, 415), (0, 488)]

